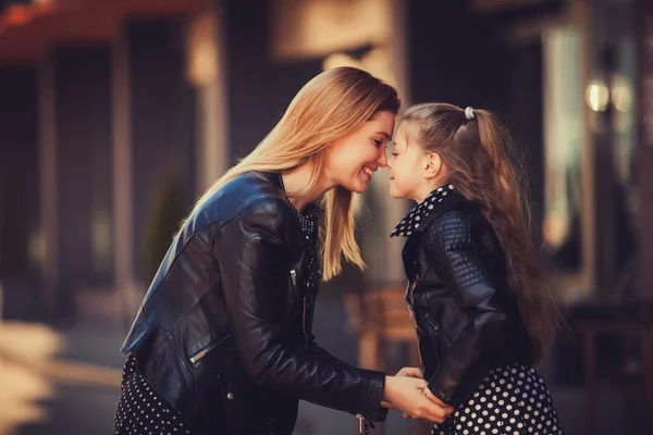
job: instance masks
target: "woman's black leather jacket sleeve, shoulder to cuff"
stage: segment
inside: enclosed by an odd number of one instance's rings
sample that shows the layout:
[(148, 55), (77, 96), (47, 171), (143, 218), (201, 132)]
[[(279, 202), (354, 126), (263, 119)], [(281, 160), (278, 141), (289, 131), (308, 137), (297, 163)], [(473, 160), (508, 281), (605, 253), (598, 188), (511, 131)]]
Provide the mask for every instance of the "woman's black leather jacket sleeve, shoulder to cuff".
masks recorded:
[[(238, 357), (252, 382), (299, 399), (380, 421), (385, 374), (346, 364), (319, 346), (297, 344), (288, 324), (287, 212), (255, 204), (213, 240)], [(284, 216), (285, 213), (285, 216)]]

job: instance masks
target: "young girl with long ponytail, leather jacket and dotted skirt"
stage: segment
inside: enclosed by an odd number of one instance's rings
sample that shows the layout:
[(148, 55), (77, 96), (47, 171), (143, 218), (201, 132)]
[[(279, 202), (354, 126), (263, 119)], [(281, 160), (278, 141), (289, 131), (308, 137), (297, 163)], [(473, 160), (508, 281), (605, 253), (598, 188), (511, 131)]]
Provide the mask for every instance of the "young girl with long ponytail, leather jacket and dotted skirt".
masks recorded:
[(510, 142), (486, 111), (408, 108), (390, 194), (418, 206), (391, 236), (429, 388), (455, 412), (433, 434), (562, 434), (538, 363), (557, 309), (529, 238)]

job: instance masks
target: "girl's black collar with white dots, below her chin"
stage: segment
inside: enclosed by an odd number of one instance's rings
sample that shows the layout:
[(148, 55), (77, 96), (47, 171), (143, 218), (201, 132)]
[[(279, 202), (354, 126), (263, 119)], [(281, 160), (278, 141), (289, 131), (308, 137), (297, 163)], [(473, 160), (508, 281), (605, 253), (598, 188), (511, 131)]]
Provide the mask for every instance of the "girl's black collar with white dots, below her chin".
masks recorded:
[(449, 184), (434, 189), (395, 226), (390, 237), (409, 237), (415, 233), (422, 232), (431, 221), (453, 209), (460, 200), (461, 196), (454, 185)]

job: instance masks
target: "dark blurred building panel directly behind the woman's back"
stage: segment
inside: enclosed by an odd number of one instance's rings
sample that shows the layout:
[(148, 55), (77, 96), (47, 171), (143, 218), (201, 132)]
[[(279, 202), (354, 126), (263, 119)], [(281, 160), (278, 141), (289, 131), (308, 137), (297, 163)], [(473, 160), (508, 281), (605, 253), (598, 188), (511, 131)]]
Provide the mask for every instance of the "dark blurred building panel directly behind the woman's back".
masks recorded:
[(113, 47), (114, 281), (132, 318), (195, 194), (195, 94), (181, 20), (132, 18)]

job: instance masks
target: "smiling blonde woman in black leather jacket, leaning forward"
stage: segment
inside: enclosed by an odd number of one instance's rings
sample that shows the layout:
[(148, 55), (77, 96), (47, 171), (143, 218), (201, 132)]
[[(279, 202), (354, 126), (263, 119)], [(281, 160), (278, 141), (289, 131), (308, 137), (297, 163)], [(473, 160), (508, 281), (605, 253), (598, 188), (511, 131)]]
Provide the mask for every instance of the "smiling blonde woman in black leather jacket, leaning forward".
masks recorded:
[(364, 265), (353, 192), (386, 164), (398, 108), (396, 91), (368, 73), (326, 71), (200, 198), (123, 345), (116, 434), (291, 434), (298, 399), (365, 424), (384, 419), (382, 401), (443, 420), (423, 380), (350, 366), (311, 334), (322, 274), (336, 275), (343, 254)]

